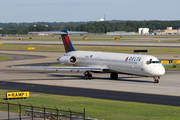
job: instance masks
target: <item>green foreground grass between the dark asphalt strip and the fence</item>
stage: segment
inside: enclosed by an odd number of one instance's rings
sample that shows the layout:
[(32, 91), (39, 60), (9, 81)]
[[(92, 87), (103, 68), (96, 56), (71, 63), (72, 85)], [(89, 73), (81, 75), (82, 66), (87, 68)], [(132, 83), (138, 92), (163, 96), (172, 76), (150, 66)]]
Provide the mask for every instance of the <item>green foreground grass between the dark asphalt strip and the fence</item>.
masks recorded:
[[(0, 101), (5, 97), (7, 90), (0, 90)], [(45, 106), (58, 109), (83, 112), (86, 117), (104, 120), (176, 120), (180, 118), (180, 107), (145, 104), (137, 102), (123, 102), (115, 100), (94, 99), (87, 97), (72, 97), (64, 95), (50, 95), (30, 92), (27, 99), (8, 100), (34, 106)], [(7, 106), (0, 104), (0, 110), (7, 111)], [(11, 111), (17, 112), (18, 107)]]

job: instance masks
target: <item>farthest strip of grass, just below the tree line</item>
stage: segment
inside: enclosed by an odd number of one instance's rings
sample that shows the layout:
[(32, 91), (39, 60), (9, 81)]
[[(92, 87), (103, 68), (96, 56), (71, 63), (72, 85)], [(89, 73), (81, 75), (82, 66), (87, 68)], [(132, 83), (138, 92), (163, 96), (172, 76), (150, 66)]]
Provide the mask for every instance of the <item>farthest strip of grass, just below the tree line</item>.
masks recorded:
[[(83, 37), (87, 37), (87, 40), (83, 40)], [(119, 35), (122, 36), (122, 38), (120, 38), (121, 40), (123, 38), (129, 38), (129, 40), (131, 40), (131, 38), (180, 38), (180, 35)], [(24, 38), (24, 41), (58, 41), (60, 40), (59, 37), (61, 37), (60, 35), (53, 35), (53, 37), (51, 36), (30, 36), (32, 39), (29, 39), (28, 35), (16, 35), (16, 36), (9, 36), (9, 37), (1, 37), (2, 39), (4, 38), (5, 40), (19, 40), (19, 38)], [(103, 34), (84, 34), (83, 36), (80, 36), (78, 34), (72, 34), (70, 35), (71, 39), (73, 41), (110, 41), (113, 38), (117, 38), (118, 35), (106, 35), (105, 33)], [(125, 40), (125, 39), (124, 39)]]

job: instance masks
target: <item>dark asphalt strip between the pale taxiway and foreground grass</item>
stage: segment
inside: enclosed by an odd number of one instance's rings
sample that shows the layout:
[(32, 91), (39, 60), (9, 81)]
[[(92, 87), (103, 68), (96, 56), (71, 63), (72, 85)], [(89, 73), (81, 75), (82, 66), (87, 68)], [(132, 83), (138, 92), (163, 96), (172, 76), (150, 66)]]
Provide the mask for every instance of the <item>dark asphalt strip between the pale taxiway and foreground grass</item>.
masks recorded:
[(7, 89), (7, 90), (13, 89), (13, 90), (39, 92), (39, 93), (47, 93), (47, 94), (55, 94), (55, 95), (82, 96), (82, 97), (91, 97), (91, 98), (107, 99), (107, 100), (180, 106), (180, 97), (178, 96), (96, 90), (96, 89), (85, 89), (85, 88), (75, 88), (75, 87), (61, 87), (61, 86), (16, 83), (16, 82), (5, 82), (5, 81), (0, 81), (0, 89)]

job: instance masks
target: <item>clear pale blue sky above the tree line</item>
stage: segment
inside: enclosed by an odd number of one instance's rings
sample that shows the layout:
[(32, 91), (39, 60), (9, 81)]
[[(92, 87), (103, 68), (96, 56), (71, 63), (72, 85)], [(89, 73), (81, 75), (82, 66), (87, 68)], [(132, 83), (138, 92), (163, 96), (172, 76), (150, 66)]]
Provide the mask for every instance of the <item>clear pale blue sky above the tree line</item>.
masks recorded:
[(180, 20), (180, 0), (1, 0), (0, 23)]

